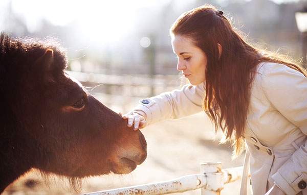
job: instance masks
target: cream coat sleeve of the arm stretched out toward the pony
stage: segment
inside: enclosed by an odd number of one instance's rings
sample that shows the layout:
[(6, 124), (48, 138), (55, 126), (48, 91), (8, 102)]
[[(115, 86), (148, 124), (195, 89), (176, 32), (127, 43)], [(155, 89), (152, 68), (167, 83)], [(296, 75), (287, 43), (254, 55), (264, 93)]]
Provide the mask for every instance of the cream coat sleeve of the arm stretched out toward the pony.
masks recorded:
[(201, 112), (205, 85), (184, 85), (180, 90), (164, 92), (160, 95), (140, 100), (132, 111), (146, 113), (146, 125), (165, 119), (175, 119)]

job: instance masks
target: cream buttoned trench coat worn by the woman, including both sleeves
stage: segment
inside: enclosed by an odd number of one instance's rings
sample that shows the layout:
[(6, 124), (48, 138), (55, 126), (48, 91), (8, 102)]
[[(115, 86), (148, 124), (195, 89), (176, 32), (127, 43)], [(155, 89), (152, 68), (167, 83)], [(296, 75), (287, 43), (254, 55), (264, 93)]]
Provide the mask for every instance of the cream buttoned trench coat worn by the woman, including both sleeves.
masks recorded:
[[(150, 97), (134, 109), (146, 124), (201, 112), (204, 83)], [(307, 78), (283, 64), (260, 63), (251, 87), (244, 130), (253, 194), (274, 183), (286, 194), (307, 195)]]

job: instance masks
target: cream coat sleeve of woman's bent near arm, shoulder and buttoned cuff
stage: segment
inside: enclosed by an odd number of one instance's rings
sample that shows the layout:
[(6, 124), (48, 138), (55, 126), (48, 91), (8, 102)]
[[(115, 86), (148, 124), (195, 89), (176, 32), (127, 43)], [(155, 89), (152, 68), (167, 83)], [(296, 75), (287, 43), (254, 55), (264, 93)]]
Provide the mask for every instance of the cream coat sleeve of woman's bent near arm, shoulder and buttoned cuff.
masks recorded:
[[(269, 64), (261, 79), (273, 107), (307, 135), (307, 78), (286, 65)], [(307, 142), (272, 176), (286, 194), (297, 194), (307, 183)]]

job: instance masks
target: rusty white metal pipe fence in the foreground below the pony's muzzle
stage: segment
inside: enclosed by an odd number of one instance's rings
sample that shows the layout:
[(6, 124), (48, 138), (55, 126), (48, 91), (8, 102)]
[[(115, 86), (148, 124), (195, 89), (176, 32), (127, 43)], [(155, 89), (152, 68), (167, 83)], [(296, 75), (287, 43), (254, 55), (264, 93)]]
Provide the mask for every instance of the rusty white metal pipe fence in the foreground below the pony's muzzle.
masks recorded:
[(201, 188), (202, 195), (220, 194), (224, 185), (241, 178), (243, 166), (222, 169), (222, 163), (201, 163), (201, 174), (183, 176), (174, 180), (137, 185), (81, 195), (137, 195), (169, 194)]

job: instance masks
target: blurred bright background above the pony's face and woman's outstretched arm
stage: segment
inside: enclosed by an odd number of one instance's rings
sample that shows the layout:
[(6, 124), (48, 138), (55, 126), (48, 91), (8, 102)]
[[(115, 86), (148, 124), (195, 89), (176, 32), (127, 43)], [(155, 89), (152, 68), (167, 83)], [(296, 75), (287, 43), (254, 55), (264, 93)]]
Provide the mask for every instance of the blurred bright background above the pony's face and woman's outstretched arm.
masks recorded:
[[(134, 97), (180, 85), (168, 31), (181, 13), (204, 4), (222, 9), (252, 43), (305, 60), (306, 33), (295, 14), (307, 11), (306, 0), (2, 0), (0, 29), (12, 37), (57, 38), (71, 74), (125, 112)], [(300, 20), (307, 31), (307, 19)]]

